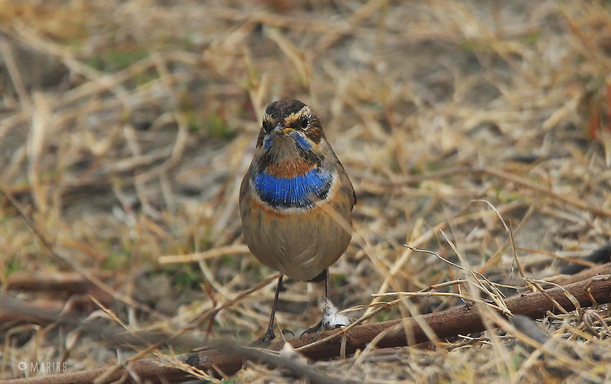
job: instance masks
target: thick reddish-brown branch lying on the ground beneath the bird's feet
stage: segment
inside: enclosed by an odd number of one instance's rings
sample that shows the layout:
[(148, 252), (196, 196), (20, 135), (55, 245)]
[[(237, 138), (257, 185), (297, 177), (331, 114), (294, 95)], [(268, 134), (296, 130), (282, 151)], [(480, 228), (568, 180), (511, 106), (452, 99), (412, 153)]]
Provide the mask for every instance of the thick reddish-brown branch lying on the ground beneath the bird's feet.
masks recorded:
[[(587, 286), (590, 283), (590, 294), (598, 303), (611, 302), (611, 275), (606, 275), (599, 278), (588, 278), (584, 281), (570, 284), (563, 287), (570, 292), (578, 301), (580, 306), (591, 306), (592, 303), (588, 299)], [(546, 294), (565, 308), (567, 311), (575, 309), (571, 300), (566, 297), (561, 288), (547, 289)], [(547, 311), (554, 311), (554, 305), (547, 299), (546, 295), (541, 292), (533, 292), (529, 294), (521, 294), (511, 297), (506, 300), (507, 307), (513, 314), (523, 314), (525, 316), (537, 319), (543, 317)], [(395, 325), (404, 322), (403, 327), (395, 327)], [(407, 337), (405, 329), (410, 330), (409, 338), (415, 342), (425, 342), (428, 338), (425, 332), (420, 327), (419, 322), (426, 322), (431, 329), (436, 333), (438, 338), (451, 338), (458, 334), (468, 334), (478, 331), (483, 331), (484, 326), (481, 322), (477, 308), (473, 305), (466, 305), (461, 308), (455, 308), (439, 313), (431, 313), (419, 316), (417, 319), (397, 319), (391, 321), (379, 322), (376, 324), (358, 325), (346, 333), (346, 353), (353, 353), (357, 349), (363, 349), (368, 342), (371, 341), (381, 331), (387, 330), (390, 327), (395, 329), (389, 330), (379, 342), (379, 347), (401, 347), (407, 345)], [(318, 339), (325, 338), (337, 331), (325, 331)], [(287, 342), (297, 348), (312, 342), (306, 338), (290, 338)], [(272, 344), (270, 349), (279, 350), (284, 341), (277, 340)], [(321, 360), (325, 358), (337, 357), (340, 353), (340, 338), (335, 338), (327, 341), (324, 344), (310, 347), (302, 351), (305, 357), (312, 360)], [(246, 357), (246, 356), (243, 356)], [(247, 358), (247, 357), (246, 357)], [(238, 357), (236, 352), (224, 352), (219, 350), (206, 350), (199, 353), (185, 353), (175, 357), (177, 361), (185, 363), (203, 371), (214, 371), (214, 367), (221, 369), (224, 374), (234, 374), (242, 366), (242, 357)], [(159, 366), (159, 359), (142, 359), (134, 361), (130, 364), (130, 371), (137, 372), (137, 375), (142, 381), (149, 380), (150, 382), (178, 382), (189, 377), (188, 374), (178, 368), (168, 366)], [(164, 361), (167, 363), (167, 361)], [(67, 383), (89, 383), (95, 380), (96, 377), (104, 373), (106, 369), (94, 369), (91, 371), (70, 372), (46, 377), (34, 377), (31, 379), (15, 379), (7, 380), (5, 384), (67, 384)], [(115, 372), (109, 375), (104, 383), (110, 383), (119, 379), (124, 374), (123, 371)], [(133, 382), (128, 379), (126, 382)]]

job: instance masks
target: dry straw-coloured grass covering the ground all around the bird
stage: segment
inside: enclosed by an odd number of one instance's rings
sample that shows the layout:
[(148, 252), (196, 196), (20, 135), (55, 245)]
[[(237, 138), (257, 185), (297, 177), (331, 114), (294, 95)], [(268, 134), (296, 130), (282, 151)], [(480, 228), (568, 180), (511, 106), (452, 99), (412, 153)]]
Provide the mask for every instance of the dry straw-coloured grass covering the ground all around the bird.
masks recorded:
[[(134, 331), (173, 333), (273, 276), (243, 245), (237, 200), (262, 110), (278, 98), (316, 110), (357, 191), (353, 242), (331, 268), (342, 308), (465, 278), (403, 244), (522, 284), (497, 212), (528, 278), (555, 274), (565, 261), (554, 256), (584, 256), (609, 241), (604, 2), (94, 4), (0, 4), (0, 185), (60, 256), (0, 200), (4, 287), (17, 271), (110, 271), (109, 310)], [(251, 340), (265, 328), (273, 289), (244, 295), (187, 335)], [(315, 324), (320, 293), (288, 283), (280, 327)], [(67, 299), (11, 294), (54, 309)], [(412, 297), (372, 320), (456, 303)], [(591, 335), (575, 314), (550, 316), (544, 329), (552, 340), (535, 352), (489, 331), (316, 366), (367, 383), (610, 380), (603, 333)], [(67, 331), (2, 324), (0, 377), (23, 377), (18, 361), (65, 360), (76, 370), (141, 350)], [(224, 382), (290, 380), (249, 364)]]

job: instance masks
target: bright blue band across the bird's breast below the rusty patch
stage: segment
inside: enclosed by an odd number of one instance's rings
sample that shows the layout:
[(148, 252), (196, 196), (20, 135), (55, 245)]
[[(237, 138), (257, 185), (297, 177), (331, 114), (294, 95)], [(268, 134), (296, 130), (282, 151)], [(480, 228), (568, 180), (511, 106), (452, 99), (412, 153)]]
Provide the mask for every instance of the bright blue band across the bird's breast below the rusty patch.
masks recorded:
[(332, 175), (315, 168), (293, 178), (278, 178), (263, 170), (253, 181), (259, 198), (274, 208), (307, 208), (314, 205), (310, 197), (327, 197)]

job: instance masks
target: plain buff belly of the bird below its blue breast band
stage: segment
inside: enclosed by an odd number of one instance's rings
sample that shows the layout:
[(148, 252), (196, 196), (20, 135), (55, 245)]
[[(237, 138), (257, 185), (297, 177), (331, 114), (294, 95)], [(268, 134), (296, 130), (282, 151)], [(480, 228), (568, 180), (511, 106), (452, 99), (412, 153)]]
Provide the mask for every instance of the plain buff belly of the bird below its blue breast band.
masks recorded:
[[(348, 210), (337, 210), (351, 226)], [(263, 265), (296, 280), (310, 280), (337, 261), (351, 233), (320, 207), (274, 214), (266, 208), (242, 210), (244, 241)]]

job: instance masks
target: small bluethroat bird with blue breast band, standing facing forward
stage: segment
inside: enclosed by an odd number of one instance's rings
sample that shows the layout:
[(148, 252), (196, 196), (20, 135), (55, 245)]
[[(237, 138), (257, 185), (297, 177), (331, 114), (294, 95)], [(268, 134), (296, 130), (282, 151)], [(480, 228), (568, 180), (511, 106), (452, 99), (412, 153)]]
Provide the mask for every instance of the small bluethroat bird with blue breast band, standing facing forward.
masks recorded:
[(329, 266), (348, 247), (355, 203), (352, 183), (312, 110), (298, 100), (269, 104), (240, 186), (244, 241), (258, 261), (282, 273), (262, 340), (275, 337), (283, 275), (324, 280), (328, 299)]

